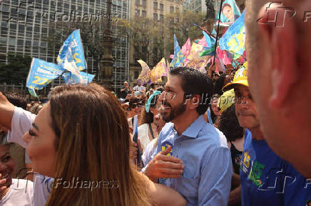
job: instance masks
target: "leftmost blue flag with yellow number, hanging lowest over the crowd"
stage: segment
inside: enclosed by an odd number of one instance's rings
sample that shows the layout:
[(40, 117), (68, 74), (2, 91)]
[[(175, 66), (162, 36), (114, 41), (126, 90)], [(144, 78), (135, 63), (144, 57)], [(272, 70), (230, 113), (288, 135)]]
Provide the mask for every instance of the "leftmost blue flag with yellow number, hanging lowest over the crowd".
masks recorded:
[(41, 90), (64, 72), (63, 67), (33, 58), (26, 80), (26, 87), (36, 97), (34, 90)]

